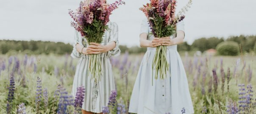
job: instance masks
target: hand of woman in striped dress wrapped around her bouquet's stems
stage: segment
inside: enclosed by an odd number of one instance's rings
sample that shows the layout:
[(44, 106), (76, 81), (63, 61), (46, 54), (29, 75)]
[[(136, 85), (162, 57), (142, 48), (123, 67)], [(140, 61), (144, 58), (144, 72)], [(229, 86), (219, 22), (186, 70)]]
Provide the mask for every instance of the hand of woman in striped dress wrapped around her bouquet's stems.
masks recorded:
[(100, 54), (108, 52), (107, 46), (101, 45), (100, 43), (91, 42), (89, 48), (92, 51), (89, 54)]

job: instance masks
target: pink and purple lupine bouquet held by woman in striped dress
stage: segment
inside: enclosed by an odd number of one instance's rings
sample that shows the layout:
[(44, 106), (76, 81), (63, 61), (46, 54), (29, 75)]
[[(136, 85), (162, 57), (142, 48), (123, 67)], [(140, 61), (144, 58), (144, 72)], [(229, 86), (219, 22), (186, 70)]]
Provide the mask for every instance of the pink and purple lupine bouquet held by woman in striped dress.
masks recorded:
[[(74, 20), (71, 26), (85, 37), (88, 43), (101, 43), (105, 30), (109, 27), (109, 16), (118, 5), (125, 4), (118, 0), (112, 4), (107, 4), (106, 0), (84, 0), (81, 1), (76, 12), (69, 9), (69, 14)], [(89, 55), (89, 71), (97, 82), (101, 75), (101, 62), (99, 54)]]

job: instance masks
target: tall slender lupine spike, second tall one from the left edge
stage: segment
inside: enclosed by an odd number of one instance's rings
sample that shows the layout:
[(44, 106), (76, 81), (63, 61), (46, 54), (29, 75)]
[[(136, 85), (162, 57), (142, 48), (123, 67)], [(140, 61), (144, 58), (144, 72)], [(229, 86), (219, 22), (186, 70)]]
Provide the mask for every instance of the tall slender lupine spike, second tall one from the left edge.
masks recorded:
[(41, 98), (42, 98), (42, 83), (41, 83), (41, 79), (39, 77), (37, 77), (37, 86), (36, 86), (36, 112), (37, 114), (39, 114), (39, 106), (41, 104)]

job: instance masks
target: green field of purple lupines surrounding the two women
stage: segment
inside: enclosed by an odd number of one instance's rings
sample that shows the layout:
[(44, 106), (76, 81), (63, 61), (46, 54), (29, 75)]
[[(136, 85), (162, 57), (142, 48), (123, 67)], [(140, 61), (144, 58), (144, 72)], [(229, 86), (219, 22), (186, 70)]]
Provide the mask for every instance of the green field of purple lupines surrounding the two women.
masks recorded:
[[(111, 58), (117, 96), (113, 92), (114, 105), (104, 107), (106, 112), (128, 114), (142, 57), (124, 53)], [(256, 114), (255, 58), (182, 56), (195, 114)], [(80, 114), (86, 90), (78, 88), (76, 98), (70, 94), (77, 62), (69, 54), (0, 55), (0, 114)]]

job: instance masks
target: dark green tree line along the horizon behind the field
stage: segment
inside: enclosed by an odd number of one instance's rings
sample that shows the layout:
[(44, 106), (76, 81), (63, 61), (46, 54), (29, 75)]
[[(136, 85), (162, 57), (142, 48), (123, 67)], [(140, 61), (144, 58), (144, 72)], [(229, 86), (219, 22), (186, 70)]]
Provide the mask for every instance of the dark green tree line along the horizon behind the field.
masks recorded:
[[(230, 36), (227, 39), (210, 37), (196, 39), (192, 45), (187, 42), (178, 45), (178, 51), (195, 51), (201, 52), (207, 49), (216, 49), (217, 45), (224, 41), (234, 41), (241, 45), (243, 52), (256, 51), (256, 35), (239, 35)], [(122, 52), (128, 51), (131, 54), (146, 52), (147, 48), (139, 46), (132, 46), (128, 48), (125, 45), (119, 46)], [(14, 41), (14, 40), (0, 40), (0, 53), (6, 54), (9, 51), (25, 52), (28, 54), (66, 54), (72, 52), (72, 45), (62, 42), (51, 41)]]

